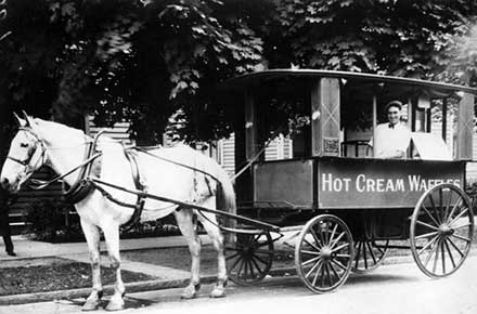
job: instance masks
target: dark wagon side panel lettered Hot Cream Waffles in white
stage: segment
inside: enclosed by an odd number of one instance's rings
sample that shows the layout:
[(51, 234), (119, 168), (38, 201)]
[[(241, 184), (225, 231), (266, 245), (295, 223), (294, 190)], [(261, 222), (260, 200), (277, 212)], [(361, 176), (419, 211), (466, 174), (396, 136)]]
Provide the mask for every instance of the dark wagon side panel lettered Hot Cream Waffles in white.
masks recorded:
[(464, 187), (461, 161), (318, 159), (320, 209), (414, 208), (439, 183)]

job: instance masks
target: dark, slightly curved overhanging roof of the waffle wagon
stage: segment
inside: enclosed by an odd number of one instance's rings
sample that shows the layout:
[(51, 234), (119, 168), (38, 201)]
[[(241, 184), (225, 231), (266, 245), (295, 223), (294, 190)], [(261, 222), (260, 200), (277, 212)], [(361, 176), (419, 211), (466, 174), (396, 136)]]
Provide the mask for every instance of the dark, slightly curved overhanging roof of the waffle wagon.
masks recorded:
[(249, 87), (257, 87), (268, 81), (274, 81), (278, 79), (285, 79), (285, 78), (307, 79), (307, 78), (320, 78), (320, 77), (345, 79), (353, 86), (389, 83), (395, 87), (399, 86), (403, 88), (425, 89), (431, 91), (431, 94), (434, 95), (439, 95), (439, 94), (449, 95), (457, 91), (477, 94), (477, 89), (469, 88), (466, 86), (442, 83), (442, 82), (421, 80), (414, 78), (384, 76), (376, 74), (362, 74), (362, 73), (322, 70), (322, 69), (268, 69), (263, 71), (256, 71), (229, 79), (222, 83), (222, 88), (229, 90), (230, 89), (241, 90)]

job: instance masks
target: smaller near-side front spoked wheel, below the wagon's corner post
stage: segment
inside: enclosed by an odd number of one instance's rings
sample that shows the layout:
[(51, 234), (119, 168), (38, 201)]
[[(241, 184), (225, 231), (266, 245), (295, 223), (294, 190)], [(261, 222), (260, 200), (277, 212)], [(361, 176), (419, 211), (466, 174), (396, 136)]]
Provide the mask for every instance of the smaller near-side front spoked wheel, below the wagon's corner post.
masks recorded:
[(322, 214), (301, 230), (295, 247), (295, 265), (301, 280), (315, 293), (341, 286), (352, 266), (353, 246), (348, 226), (339, 218)]

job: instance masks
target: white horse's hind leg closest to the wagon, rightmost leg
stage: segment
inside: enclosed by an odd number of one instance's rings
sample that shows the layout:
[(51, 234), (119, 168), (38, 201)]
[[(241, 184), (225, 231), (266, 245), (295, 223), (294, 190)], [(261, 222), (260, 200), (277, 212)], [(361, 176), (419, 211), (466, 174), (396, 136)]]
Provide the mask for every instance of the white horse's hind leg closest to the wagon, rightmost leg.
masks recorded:
[[(206, 200), (204, 206), (214, 208), (212, 206), (215, 206), (215, 198), (209, 198)], [(215, 214), (201, 212), (197, 218), (210, 237), (214, 248), (217, 250), (217, 284), (210, 292), (210, 298), (222, 298), (225, 297), (225, 286), (228, 282), (225, 256), (223, 253), (223, 235), (218, 227), (218, 222)]]

